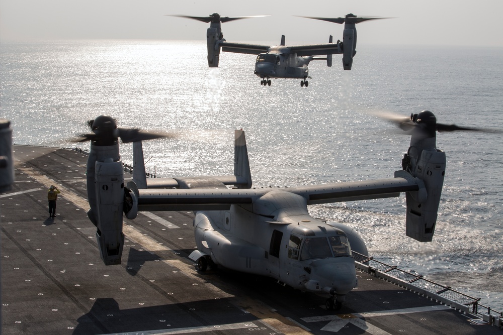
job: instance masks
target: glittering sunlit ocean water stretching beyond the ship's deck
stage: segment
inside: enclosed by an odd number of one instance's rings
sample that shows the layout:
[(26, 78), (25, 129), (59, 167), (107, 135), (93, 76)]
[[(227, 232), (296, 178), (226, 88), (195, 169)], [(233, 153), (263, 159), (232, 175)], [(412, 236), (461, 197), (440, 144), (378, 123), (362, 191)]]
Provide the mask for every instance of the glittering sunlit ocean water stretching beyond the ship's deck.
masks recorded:
[[(255, 57), (206, 63), (199, 41), (0, 44), (0, 117), (16, 144), (75, 147), (86, 121), (173, 131), (144, 143), (158, 176), (229, 174), (233, 130), (246, 131), (254, 186), (393, 176), (409, 138), (370, 112), (428, 109), (439, 123), (503, 128), (503, 49), (358, 46), (352, 71), (313, 61), (300, 80), (260, 85)], [(315, 205), (315, 217), (355, 228), (377, 259), (480, 297), (503, 310), (501, 134), (442, 133), (447, 170), (431, 243), (405, 236), (404, 196)], [(78, 144), (88, 149), (89, 144)], [(132, 163), (131, 144), (121, 145)]]

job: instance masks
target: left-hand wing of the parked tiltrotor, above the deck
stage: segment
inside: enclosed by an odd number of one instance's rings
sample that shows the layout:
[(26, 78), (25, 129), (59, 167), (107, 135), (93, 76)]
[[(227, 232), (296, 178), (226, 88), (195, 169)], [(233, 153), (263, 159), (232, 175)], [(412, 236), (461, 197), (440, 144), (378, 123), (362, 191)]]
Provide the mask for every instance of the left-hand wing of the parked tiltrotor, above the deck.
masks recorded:
[(225, 210), (231, 204), (251, 204), (267, 189), (139, 189), (138, 211)]

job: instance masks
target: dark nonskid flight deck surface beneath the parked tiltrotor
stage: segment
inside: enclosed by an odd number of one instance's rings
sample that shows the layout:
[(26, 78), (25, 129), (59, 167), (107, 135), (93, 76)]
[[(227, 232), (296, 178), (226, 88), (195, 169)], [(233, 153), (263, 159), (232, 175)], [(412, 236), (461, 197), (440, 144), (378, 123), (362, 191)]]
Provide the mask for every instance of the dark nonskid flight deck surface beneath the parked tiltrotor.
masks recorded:
[[(272, 279), (199, 273), (191, 212), (124, 220), (122, 264), (105, 266), (87, 218), (87, 155), (15, 146), (16, 181), (2, 203), (2, 333), (501, 334), (366, 273), (340, 311)], [(47, 188), (61, 194), (49, 218)]]

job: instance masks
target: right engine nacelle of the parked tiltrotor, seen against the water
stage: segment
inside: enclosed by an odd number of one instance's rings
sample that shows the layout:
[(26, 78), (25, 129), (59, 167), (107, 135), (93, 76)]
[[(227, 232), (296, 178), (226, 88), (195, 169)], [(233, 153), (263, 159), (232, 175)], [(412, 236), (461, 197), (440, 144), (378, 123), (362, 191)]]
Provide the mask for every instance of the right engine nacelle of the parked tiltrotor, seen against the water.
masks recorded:
[(441, 150), (422, 150), (417, 158), (414, 158), (415, 155), (409, 149), (404, 160), (413, 161), (411, 172), (423, 181), (427, 196), (424, 199), (424, 196), (417, 194), (406, 194), (406, 234), (420, 242), (431, 242), (444, 184), (446, 157)]

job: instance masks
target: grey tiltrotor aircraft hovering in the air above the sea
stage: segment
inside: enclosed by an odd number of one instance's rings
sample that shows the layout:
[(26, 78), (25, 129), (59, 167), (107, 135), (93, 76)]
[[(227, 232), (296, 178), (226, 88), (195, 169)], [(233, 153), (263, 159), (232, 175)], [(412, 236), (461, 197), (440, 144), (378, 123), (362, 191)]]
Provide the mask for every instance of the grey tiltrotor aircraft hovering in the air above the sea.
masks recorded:
[[(356, 54), (356, 24), (381, 19), (358, 18), (353, 14), (348, 14), (345, 18), (310, 18), (340, 24), (345, 23), (343, 41), (332, 43), (332, 36), (330, 35), (326, 44), (287, 46), (285, 45), (285, 35), (282, 35), (280, 45), (270, 46), (225, 41), (221, 23), (250, 17), (220, 17), (217, 13), (208, 17), (174, 16), (210, 23), (210, 28), (206, 31), (209, 67), (218, 67), (220, 50), (258, 55), (254, 73), (261, 78), (261, 85), (271, 86), (271, 78), (296, 78), (301, 79), (300, 85), (306, 87), (309, 85), (307, 78), (310, 78), (307, 66), (312, 60), (326, 60), (326, 65), (332, 66), (332, 54), (343, 54), (343, 67), (345, 70), (351, 70), (353, 57)], [(325, 55), (325, 57), (314, 57), (319, 55)]]

